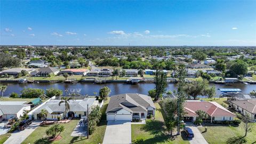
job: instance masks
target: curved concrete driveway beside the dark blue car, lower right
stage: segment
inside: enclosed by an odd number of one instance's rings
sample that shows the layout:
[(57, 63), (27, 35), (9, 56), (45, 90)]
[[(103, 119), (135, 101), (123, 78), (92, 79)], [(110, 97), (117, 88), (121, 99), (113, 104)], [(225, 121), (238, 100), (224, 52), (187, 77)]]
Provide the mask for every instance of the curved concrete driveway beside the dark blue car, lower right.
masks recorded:
[(190, 125), (187, 127), (189, 127), (194, 133), (194, 138), (188, 139), (190, 144), (208, 144), (208, 142), (204, 139), (202, 133), (197, 129), (196, 126)]

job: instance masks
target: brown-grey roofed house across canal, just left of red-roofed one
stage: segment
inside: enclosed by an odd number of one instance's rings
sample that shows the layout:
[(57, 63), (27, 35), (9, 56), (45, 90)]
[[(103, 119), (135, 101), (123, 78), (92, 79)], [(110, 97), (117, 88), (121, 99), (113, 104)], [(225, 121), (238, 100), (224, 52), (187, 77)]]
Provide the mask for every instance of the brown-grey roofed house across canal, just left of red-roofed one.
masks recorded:
[(52, 67), (45, 67), (35, 71), (32, 71), (30, 74), (31, 76), (43, 76), (47, 77), (48, 75), (57, 75), (60, 70), (52, 68)]

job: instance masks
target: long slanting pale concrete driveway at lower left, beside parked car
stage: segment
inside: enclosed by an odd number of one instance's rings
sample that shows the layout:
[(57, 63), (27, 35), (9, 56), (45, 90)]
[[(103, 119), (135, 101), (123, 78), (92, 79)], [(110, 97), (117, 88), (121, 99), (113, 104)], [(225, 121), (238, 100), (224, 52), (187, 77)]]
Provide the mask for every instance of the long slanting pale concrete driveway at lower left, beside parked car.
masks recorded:
[(29, 126), (26, 127), (25, 130), (19, 131), (16, 130), (12, 133), (11, 137), (9, 137), (4, 144), (19, 144), (24, 141), (41, 123), (41, 121), (33, 121)]

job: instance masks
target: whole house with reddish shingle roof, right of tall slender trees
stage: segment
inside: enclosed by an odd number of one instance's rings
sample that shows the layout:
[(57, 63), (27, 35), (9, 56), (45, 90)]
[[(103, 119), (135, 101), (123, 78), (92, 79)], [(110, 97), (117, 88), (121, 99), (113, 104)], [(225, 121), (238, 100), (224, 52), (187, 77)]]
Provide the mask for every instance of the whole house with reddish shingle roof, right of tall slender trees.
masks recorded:
[(222, 107), (219, 103), (213, 101), (188, 100), (184, 103), (185, 117), (184, 121), (195, 122), (198, 115), (197, 110), (205, 111), (211, 123), (213, 121), (234, 121), (236, 115)]

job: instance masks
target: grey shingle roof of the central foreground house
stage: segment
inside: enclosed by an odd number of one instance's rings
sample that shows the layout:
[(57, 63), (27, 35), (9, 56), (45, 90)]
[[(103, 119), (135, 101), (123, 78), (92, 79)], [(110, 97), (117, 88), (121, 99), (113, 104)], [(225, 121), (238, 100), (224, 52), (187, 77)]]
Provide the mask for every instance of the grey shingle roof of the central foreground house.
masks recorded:
[(148, 95), (138, 93), (126, 93), (113, 95), (110, 98), (106, 113), (115, 113), (124, 108), (130, 112), (147, 111), (147, 107), (155, 108), (155, 105)]

